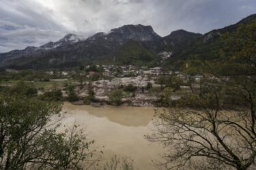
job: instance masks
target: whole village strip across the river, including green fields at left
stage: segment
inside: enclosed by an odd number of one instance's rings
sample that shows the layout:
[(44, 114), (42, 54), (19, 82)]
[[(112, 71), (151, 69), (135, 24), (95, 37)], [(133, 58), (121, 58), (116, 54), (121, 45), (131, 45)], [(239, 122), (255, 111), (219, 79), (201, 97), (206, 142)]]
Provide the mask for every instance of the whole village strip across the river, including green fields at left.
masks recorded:
[[(141, 107), (175, 105), (191, 93), (190, 85), (199, 89), (205, 79), (205, 75), (191, 76), (162, 67), (134, 65), (85, 65), (75, 69), (43, 71), (6, 69), (5, 74), (1, 86), (16, 86), (18, 81), (23, 81), (36, 88), (38, 95), (58, 89), (63, 99), (76, 105)], [(218, 80), (212, 75), (207, 76), (208, 80)], [(13, 80), (8, 81), (8, 77)], [(70, 86), (74, 92), (70, 93)], [(70, 94), (74, 95), (72, 99)]]

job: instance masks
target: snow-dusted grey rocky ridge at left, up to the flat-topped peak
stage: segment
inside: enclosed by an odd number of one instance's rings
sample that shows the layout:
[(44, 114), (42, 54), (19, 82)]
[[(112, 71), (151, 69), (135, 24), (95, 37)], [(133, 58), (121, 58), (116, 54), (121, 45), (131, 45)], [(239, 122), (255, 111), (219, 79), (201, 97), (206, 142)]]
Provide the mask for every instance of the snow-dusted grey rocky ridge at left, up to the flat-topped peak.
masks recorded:
[(87, 39), (66, 35), (57, 42), (49, 42), (38, 48), (0, 54), (0, 63), (25, 68), (68, 67), (108, 57), (115, 50), (122, 49), (120, 47), (130, 40), (146, 42), (157, 39), (162, 37), (157, 35), (151, 26), (130, 24), (112, 29), (110, 33), (96, 33)]

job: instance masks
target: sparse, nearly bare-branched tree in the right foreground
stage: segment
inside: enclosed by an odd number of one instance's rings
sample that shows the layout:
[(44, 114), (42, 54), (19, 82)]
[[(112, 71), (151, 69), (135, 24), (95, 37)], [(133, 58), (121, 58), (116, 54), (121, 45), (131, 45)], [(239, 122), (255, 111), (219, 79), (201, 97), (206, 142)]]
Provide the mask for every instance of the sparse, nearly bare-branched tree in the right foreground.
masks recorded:
[[(256, 168), (255, 33), (254, 21), (223, 35), (221, 61), (201, 62), (190, 68), (188, 73), (201, 73), (204, 79), (203, 91), (190, 79), (197, 110), (158, 113), (156, 133), (147, 138), (169, 148), (162, 164), (167, 169)], [(238, 97), (244, 105), (227, 112), (226, 100), (232, 97)]]

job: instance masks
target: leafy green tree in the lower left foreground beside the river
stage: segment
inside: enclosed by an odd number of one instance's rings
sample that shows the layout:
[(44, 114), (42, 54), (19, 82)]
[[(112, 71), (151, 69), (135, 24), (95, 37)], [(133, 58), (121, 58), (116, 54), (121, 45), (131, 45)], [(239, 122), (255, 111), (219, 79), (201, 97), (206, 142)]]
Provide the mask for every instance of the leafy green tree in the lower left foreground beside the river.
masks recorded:
[(76, 126), (57, 133), (61, 105), (33, 98), (0, 97), (0, 169), (83, 169), (94, 150)]

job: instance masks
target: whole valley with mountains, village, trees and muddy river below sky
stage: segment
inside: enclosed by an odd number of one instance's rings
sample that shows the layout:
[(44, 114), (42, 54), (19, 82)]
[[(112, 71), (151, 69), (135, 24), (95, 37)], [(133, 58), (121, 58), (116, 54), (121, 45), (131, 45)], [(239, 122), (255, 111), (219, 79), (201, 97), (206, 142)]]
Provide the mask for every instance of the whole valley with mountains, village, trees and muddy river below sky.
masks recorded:
[(96, 30), (0, 53), (0, 169), (256, 169), (256, 14)]

